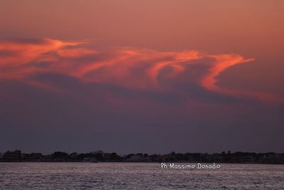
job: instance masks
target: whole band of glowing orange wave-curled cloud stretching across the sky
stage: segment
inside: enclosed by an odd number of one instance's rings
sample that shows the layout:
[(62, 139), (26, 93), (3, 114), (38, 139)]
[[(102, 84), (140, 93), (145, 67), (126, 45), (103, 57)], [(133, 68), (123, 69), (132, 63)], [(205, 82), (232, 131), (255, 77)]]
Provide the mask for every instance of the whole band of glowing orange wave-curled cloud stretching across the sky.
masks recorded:
[[(109, 83), (136, 90), (160, 90), (160, 80), (175, 80), (177, 75), (185, 73), (191, 65), (204, 64), (209, 65), (209, 69), (200, 74), (200, 86), (209, 91), (259, 100), (283, 101), (282, 97), (268, 93), (228, 90), (217, 85), (220, 73), (233, 65), (249, 63), (253, 58), (245, 59), (234, 54), (206, 55), (200, 51), (160, 52), (139, 48), (95, 51), (82, 47), (82, 43), (84, 42), (50, 38), (37, 43), (1, 42), (0, 79), (19, 80), (45, 90), (60, 91), (50, 84), (31, 79), (39, 73), (57, 73), (86, 83)], [(84, 58), (84, 61), (80, 58)], [(195, 60), (203, 62), (197, 63)]]

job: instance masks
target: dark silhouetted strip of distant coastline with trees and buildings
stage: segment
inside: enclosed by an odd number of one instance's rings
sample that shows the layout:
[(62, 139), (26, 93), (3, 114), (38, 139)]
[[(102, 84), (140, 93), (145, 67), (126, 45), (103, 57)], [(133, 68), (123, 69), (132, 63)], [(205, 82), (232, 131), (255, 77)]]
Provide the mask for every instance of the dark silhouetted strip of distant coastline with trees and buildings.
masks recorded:
[(54, 152), (53, 154), (31, 153), (21, 150), (0, 154), (0, 162), (202, 162), (235, 164), (284, 164), (284, 153), (274, 152), (222, 152), (222, 153), (175, 153), (170, 154), (125, 154), (103, 151), (88, 153)]

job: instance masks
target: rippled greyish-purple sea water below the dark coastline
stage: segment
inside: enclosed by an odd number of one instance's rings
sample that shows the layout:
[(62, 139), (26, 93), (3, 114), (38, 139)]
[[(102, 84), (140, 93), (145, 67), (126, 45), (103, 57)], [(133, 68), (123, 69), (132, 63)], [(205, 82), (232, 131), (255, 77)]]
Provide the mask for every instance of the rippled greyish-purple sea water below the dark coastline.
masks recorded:
[(0, 189), (284, 189), (284, 165), (178, 169), (160, 163), (3, 162)]

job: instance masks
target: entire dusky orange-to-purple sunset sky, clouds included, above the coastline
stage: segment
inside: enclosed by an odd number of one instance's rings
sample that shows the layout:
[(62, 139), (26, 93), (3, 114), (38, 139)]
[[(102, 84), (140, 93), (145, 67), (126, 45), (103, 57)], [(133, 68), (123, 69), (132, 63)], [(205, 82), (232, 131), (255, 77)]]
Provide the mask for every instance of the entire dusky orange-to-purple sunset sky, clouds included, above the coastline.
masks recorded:
[(0, 0), (0, 152), (284, 152), (283, 13)]

